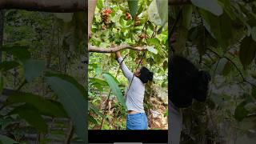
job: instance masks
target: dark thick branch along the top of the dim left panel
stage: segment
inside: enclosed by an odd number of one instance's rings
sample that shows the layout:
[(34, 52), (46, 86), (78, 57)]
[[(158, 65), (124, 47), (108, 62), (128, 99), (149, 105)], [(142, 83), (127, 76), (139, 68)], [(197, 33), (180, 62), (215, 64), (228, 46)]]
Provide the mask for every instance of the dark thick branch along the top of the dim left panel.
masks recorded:
[(0, 9), (21, 9), (56, 13), (87, 10), (87, 0), (0, 0)]

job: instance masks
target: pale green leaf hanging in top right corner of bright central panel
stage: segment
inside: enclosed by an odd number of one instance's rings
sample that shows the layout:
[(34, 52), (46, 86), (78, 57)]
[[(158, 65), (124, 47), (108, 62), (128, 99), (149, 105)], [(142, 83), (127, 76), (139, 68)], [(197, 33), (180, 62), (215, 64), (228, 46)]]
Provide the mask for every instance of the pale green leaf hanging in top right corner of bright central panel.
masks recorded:
[(156, 0), (156, 4), (162, 21), (161, 26), (163, 26), (168, 20), (168, 0)]

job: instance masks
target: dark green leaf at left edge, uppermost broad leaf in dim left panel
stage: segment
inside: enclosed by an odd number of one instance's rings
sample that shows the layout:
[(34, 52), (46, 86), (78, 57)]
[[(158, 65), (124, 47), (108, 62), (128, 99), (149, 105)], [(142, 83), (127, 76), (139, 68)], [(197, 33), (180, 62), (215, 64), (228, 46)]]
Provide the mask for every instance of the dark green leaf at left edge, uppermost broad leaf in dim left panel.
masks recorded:
[(27, 46), (3, 46), (1, 50), (8, 54), (13, 54), (20, 60), (31, 57)]

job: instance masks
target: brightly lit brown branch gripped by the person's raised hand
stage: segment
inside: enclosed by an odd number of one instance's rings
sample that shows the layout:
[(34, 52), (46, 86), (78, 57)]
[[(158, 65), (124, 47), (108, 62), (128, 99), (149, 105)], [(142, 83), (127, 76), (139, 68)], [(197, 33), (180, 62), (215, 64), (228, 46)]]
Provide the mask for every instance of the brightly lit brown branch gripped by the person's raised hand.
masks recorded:
[(106, 48), (100, 48), (97, 46), (91, 46), (89, 45), (89, 52), (95, 52), (95, 53), (114, 53), (120, 50), (125, 50), (125, 49), (130, 49), (130, 50), (147, 50), (146, 47), (144, 46), (129, 46), (129, 45), (122, 45), (122, 46), (116, 46), (116, 47), (112, 47), (109, 49)]

